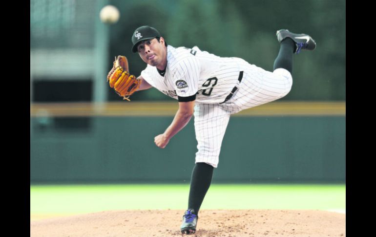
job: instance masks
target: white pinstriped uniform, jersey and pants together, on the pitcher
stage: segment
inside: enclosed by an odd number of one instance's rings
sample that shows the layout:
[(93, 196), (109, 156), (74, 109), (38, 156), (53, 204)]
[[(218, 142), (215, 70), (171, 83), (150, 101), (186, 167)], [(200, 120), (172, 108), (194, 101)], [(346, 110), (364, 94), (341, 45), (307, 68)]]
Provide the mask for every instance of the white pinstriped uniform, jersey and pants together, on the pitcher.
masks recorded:
[[(195, 53), (191, 53), (194, 50)], [(238, 81), (239, 72), (244, 71)], [(230, 115), (282, 98), (291, 90), (292, 76), (286, 69), (269, 72), (240, 58), (222, 58), (192, 49), (167, 46), (167, 67), (162, 77), (147, 65), (141, 76), (158, 90), (178, 99), (196, 94), (194, 127), (197, 139), (196, 163), (218, 166), (222, 140)], [(180, 88), (178, 83), (181, 82)], [(230, 100), (225, 101), (236, 86)]]

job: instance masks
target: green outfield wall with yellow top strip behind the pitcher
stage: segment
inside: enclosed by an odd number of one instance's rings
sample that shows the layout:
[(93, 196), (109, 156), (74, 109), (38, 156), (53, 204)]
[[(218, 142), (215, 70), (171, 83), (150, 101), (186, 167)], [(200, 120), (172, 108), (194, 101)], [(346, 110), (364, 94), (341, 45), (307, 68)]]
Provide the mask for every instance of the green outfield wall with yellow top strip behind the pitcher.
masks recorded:
[[(189, 182), (193, 119), (159, 149), (176, 103), (111, 106), (31, 105), (31, 184)], [(230, 118), (213, 182), (345, 182), (344, 103), (256, 108)]]

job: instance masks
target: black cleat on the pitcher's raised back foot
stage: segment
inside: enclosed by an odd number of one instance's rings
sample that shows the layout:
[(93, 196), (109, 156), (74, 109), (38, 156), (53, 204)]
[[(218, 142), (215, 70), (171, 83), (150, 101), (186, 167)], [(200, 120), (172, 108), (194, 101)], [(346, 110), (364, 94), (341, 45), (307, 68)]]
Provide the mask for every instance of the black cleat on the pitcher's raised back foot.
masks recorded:
[(277, 38), (279, 43), (284, 39), (290, 38), (295, 42), (295, 51), (294, 53), (298, 54), (301, 49), (313, 50), (316, 48), (316, 43), (311, 36), (307, 34), (294, 34), (289, 30), (281, 29), (277, 31)]

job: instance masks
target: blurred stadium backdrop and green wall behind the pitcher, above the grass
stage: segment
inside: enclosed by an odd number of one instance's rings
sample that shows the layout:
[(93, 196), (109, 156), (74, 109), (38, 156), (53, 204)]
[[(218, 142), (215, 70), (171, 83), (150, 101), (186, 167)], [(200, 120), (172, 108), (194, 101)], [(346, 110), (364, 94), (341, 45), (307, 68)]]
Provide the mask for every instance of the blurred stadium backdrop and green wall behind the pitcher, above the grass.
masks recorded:
[[(115, 24), (100, 21), (108, 4)], [(117, 55), (131, 74), (146, 67), (131, 52), (141, 25), (270, 71), (278, 29), (311, 35), (291, 92), (231, 117), (213, 183), (344, 184), (345, 10), (345, 0), (30, 0), (30, 184), (189, 183), (193, 119), (158, 149), (177, 102), (154, 88), (123, 101), (105, 80)]]

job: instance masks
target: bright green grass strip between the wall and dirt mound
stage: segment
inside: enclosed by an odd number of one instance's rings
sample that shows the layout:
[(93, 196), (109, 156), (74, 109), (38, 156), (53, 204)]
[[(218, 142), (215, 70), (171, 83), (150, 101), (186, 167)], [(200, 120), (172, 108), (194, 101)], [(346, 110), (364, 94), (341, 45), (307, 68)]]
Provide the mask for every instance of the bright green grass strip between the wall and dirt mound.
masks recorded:
[[(31, 185), (30, 219), (187, 208), (189, 185)], [(346, 185), (212, 184), (201, 209), (346, 210)]]

